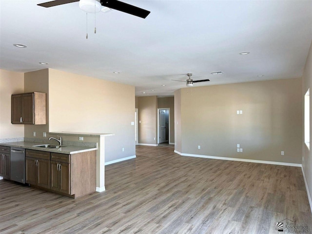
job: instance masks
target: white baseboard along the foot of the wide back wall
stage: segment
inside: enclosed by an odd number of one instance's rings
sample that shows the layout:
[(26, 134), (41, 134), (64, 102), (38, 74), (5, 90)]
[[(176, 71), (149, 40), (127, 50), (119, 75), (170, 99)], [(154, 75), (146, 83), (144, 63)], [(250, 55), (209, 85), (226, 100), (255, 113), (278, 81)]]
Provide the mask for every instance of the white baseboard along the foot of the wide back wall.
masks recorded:
[(254, 159), (245, 159), (245, 158), (236, 158), (236, 157), (218, 157), (218, 156), (206, 156), (206, 155), (193, 155), (193, 154), (184, 154), (175, 150), (175, 153), (181, 156), (190, 156), (190, 157), (203, 157), (211, 159), (221, 159), (221, 160), (230, 160), (230, 161), (240, 161), (240, 162), (254, 162), (254, 163), (265, 163), (281, 166), (291, 166), (291, 167), (301, 167), (299, 163), (289, 163), (289, 162), (274, 162), (274, 161), (263, 161), (263, 160), (254, 160)]

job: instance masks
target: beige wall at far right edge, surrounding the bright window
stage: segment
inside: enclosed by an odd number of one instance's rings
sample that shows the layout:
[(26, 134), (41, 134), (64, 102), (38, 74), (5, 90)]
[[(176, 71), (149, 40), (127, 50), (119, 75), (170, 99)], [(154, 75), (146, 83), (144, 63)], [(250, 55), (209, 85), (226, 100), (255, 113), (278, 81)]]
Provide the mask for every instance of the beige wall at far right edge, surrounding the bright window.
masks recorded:
[[(310, 139), (312, 139), (312, 42), (310, 46), (310, 51), (308, 54), (308, 58), (306, 61), (306, 66), (304, 69), (303, 77), (302, 77), (302, 96), (305, 95), (307, 90), (310, 88)], [(303, 106), (303, 105), (302, 105)], [(304, 124), (302, 124), (302, 128), (304, 128)], [(311, 142), (311, 140), (310, 140)], [(302, 158), (302, 168), (304, 170), (304, 174), (306, 176), (306, 181), (308, 184), (310, 194), (310, 198), (312, 197), (312, 153), (311, 153), (311, 143), (310, 150), (306, 146), (304, 142), (304, 138), (302, 137), (302, 147), (303, 147), (303, 158)], [(310, 200), (310, 205), (312, 206), (312, 201)]]

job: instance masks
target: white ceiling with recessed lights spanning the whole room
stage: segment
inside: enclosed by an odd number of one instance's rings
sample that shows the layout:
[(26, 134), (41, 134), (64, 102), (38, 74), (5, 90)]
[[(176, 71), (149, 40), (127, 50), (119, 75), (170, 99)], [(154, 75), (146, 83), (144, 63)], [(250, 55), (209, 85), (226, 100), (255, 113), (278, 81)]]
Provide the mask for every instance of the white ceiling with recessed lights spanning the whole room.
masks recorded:
[(171, 79), (186, 73), (211, 80), (194, 86), (298, 78), (312, 40), (312, 0), (124, 0), (150, 15), (98, 13), (94, 34), (89, 14), (88, 39), (78, 2), (41, 2), (0, 0), (0, 69), (49, 67), (134, 85), (137, 96), (173, 95), (185, 83)]

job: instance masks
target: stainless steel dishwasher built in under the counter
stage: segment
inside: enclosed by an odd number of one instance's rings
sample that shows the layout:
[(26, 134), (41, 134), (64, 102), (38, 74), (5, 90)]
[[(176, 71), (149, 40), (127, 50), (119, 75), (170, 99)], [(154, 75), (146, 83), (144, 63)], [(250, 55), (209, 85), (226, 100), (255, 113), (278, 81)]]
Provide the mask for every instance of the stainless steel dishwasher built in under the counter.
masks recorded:
[(25, 183), (25, 149), (11, 147), (11, 180)]

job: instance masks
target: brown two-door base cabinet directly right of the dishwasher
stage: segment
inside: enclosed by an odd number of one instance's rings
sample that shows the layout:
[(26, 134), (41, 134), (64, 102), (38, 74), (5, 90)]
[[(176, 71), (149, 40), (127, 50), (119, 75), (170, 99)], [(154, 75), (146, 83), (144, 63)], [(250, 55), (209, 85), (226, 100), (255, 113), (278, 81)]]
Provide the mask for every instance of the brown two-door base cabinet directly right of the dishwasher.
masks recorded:
[(50, 153), (26, 150), (26, 183), (50, 189)]

